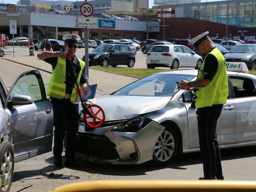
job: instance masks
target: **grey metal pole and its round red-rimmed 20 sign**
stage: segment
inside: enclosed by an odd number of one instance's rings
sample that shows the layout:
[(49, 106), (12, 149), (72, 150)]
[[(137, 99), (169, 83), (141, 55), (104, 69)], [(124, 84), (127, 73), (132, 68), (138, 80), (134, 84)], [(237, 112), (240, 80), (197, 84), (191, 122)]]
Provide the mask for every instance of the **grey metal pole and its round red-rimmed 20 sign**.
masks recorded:
[[(90, 17), (93, 13), (93, 7), (90, 3), (83, 3), (80, 7), (80, 12), (84, 17)], [(88, 27), (85, 27), (84, 32), (84, 61), (85, 61), (85, 69), (87, 72), (87, 77), (89, 78), (89, 46), (88, 46)]]

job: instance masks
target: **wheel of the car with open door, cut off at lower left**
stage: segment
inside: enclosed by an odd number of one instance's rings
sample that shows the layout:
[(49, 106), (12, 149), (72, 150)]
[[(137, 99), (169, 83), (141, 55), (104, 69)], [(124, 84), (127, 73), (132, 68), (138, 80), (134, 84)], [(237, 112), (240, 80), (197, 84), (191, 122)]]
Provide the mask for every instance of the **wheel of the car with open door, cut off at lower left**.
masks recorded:
[(0, 144), (0, 175), (5, 175), (1, 181), (1, 192), (9, 192), (14, 173), (14, 153), (11, 143), (3, 141)]

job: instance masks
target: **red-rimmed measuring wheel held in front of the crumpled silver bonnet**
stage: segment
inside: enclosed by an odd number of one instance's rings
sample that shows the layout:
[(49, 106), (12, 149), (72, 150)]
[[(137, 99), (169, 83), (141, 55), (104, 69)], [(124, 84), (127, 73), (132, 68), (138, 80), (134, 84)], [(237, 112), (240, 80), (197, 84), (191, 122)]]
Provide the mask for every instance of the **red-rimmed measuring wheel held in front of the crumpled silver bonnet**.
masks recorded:
[(91, 111), (94, 117), (92, 118), (87, 114), (83, 114), (86, 125), (92, 128), (97, 128), (101, 126), (105, 120), (105, 114), (103, 109), (101, 109), (101, 107), (98, 105), (89, 105), (87, 108)]

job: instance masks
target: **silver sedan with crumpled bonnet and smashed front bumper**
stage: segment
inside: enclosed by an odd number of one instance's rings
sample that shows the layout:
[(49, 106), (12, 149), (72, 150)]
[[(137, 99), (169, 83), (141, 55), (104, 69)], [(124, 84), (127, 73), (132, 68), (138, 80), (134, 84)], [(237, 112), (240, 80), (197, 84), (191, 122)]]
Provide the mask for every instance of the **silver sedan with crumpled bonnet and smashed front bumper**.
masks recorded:
[[(153, 166), (166, 166), (177, 154), (200, 151), (194, 94), (180, 90), (176, 83), (193, 81), (197, 73), (152, 74), (97, 98), (95, 104), (103, 109), (105, 121), (90, 129), (81, 118), (76, 154), (105, 164), (151, 161)], [(220, 148), (255, 145), (256, 76), (228, 72), (228, 78), (229, 96), (217, 123)]]

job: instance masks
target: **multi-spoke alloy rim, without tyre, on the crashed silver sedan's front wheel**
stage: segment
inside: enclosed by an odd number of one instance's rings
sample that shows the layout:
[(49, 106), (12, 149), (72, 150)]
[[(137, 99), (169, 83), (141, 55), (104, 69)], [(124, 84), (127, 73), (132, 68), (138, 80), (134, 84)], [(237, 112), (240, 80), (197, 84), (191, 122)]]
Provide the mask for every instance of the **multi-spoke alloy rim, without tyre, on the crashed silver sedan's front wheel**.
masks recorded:
[(167, 130), (163, 131), (155, 143), (155, 158), (159, 161), (169, 160), (174, 153), (174, 147), (174, 136)]

